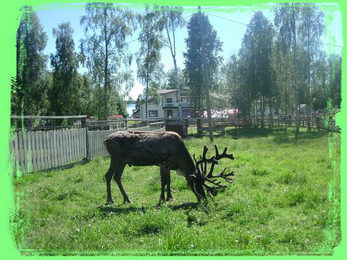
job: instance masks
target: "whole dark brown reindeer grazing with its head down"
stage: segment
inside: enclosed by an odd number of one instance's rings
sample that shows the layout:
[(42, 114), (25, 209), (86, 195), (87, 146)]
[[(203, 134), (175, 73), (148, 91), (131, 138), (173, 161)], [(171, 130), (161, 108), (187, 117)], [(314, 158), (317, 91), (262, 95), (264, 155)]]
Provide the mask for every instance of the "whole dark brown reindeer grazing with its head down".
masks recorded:
[[(174, 132), (140, 132), (140, 131), (121, 131), (109, 135), (104, 139), (104, 144), (111, 155), (110, 168), (105, 174), (107, 188), (107, 203), (114, 203), (111, 196), (112, 177), (116, 181), (118, 188), (123, 196), (123, 203), (131, 203), (131, 200), (124, 191), (121, 184), (121, 175), (124, 167), (128, 164), (134, 166), (160, 166), (161, 194), (159, 203), (165, 201), (165, 186), (167, 186), (167, 200), (173, 200), (170, 189), (170, 170), (176, 170), (178, 175), (183, 175), (188, 186), (195, 194), (198, 201), (206, 198), (203, 187), (209, 194), (216, 196), (218, 188), (226, 188), (221, 181), (216, 182), (217, 177), (224, 178), (231, 183), (229, 176), (233, 172), (224, 174), (226, 168), (217, 175), (212, 175), (214, 166), (222, 158), (234, 159), (232, 154), (227, 154), (227, 148), (222, 154), (218, 153), (215, 145), (216, 156), (206, 158), (208, 148), (204, 146), (203, 156), (196, 160), (195, 164), (185, 147), (182, 138)], [(211, 163), (211, 168), (206, 174), (207, 163)], [(212, 183), (216, 187), (210, 187), (205, 182)]]

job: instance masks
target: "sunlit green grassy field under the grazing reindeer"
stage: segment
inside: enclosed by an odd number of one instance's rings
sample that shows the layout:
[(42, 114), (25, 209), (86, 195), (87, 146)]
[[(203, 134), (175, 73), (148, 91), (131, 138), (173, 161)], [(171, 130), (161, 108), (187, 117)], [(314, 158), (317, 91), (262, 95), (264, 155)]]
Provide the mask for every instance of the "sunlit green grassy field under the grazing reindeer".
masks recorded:
[[(208, 137), (185, 141), (202, 154)], [(158, 206), (159, 167), (125, 167), (133, 204), (106, 205), (109, 158), (14, 181), (13, 237), (23, 254), (287, 255), (331, 254), (341, 240), (340, 136), (326, 132), (228, 129), (215, 137), (235, 159), (234, 183), (198, 204), (174, 171), (174, 202)], [(212, 155), (209, 151), (208, 156)], [(331, 158), (329, 157), (331, 156)], [(34, 251), (31, 251), (34, 250)]]

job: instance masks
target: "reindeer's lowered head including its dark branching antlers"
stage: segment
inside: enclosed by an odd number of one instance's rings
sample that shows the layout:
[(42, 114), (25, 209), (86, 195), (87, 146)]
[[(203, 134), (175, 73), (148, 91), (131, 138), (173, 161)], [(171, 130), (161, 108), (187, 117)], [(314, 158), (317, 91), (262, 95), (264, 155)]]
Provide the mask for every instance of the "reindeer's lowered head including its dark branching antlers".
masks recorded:
[[(220, 159), (222, 159), (222, 158), (229, 158), (231, 160), (234, 159), (232, 154), (230, 154), (230, 155), (227, 154), (227, 149), (228, 148), (226, 147), (224, 149), (223, 153), (219, 154), (218, 147), (217, 147), (217, 145), (215, 145), (216, 155), (212, 156), (211, 158), (206, 158), (208, 148), (206, 146), (204, 146), (204, 152), (203, 152), (202, 156), (200, 156), (200, 160), (196, 160), (195, 154), (193, 155), (194, 161), (195, 161), (195, 166), (196, 166), (196, 171), (194, 172), (194, 174), (191, 174), (190, 177), (193, 179), (193, 182), (194, 182), (193, 192), (198, 197), (198, 200), (201, 198), (202, 199), (206, 198), (203, 186), (205, 186), (207, 192), (209, 194), (212, 194), (213, 196), (217, 195), (217, 190), (219, 188), (227, 188), (228, 187), (226, 185), (221, 184), (222, 181), (216, 182), (215, 178), (221, 177), (221, 178), (225, 179), (227, 182), (232, 183), (232, 179), (229, 178), (229, 176), (233, 176), (234, 174), (233, 174), (233, 171), (231, 173), (224, 174), (224, 172), (227, 168), (224, 168), (224, 170), (217, 175), (212, 175), (214, 167), (216, 164), (218, 164), (218, 161)], [(207, 163), (211, 163), (211, 168), (210, 168), (210, 171), (208, 174), (206, 173), (207, 172)], [(207, 182), (212, 183), (216, 186), (211, 187), (211, 186), (206, 184)]]

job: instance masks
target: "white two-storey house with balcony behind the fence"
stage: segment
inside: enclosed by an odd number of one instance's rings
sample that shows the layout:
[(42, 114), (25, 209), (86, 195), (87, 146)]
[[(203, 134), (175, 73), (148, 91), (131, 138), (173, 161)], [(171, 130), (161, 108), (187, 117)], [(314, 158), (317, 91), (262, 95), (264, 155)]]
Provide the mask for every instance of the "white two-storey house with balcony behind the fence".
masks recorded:
[[(177, 118), (178, 117), (178, 95), (176, 90), (158, 90), (160, 95), (159, 103), (156, 104), (156, 100), (150, 99), (147, 102), (147, 119), (159, 119), (159, 118)], [(194, 113), (194, 109), (190, 105), (190, 91), (181, 90), (181, 107), (182, 116), (188, 117)], [(146, 102), (139, 104), (139, 111), (134, 113), (135, 118), (146, 118)]]

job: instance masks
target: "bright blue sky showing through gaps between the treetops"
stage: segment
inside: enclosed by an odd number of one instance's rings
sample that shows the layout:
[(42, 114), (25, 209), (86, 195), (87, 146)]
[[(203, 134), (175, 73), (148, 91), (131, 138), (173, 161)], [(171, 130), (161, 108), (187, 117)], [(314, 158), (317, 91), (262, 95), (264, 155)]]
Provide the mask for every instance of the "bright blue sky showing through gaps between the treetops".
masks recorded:
[[(326, 44), (342, 46), (342, 21), (341, 12), (337, 5), (334, 4), (324, 4), (319, 5), (322, 7), (322, 11), (325, 13), (325, 34), (322, 36), (321, 42)], [(128, 5), (130, 8), (134, 8), (134, 12), (141, 12), (143, 7), (139, 4)], [(209, 19), (214, 29), (217, 31), (217, 35), (223, 42), (223, 52), (221, 55), (224, 57), (224, 61), (228, 60), (230, 55), (237, 53), (238, 49), (241, 47), (242, 36), (245, 32), (246, 26), (243, 24), (248, 24), (253, 16), (254, 10), (261, 10), (266, 18), (268, 18), (273, 23), (274, 15), (270, 11), (270, 5), (263, 5), (259, 8), (250, 8), (237, 6), (219, 6), (215, 8), (204, 8), (204, 7), (214, 7), (214, 6), (202, 6), (205, 13), (209, 15)], [(196, 11), (197, 7), (183, 7), (183, 17), (191, 15), (192, 11)], [(50, 54), (55, 52), (55, 39), (53, 37), (52, 29), (56, 28), (61, 22), (70, 22), (71, 27), (74, 30), (73, 38), (75, 41), (75, 48), (78, 52), (79, 40), (84, 38), (83, 30), (80, 26), (79, 19), (84, 12), (84, 4), (50, 4), (38, 7), (37, 14), (39, 16), (40, 22), (44, 27), (44, 31), (47, 33), (48, 42), (44, 50), (45, 54)], [(219, 17), (217, 17), (217, 16)], [(236, 22), (232, 22), (230, 19)], [(188, 20), (187, 18), (186, 20)], [(243, 24), (241, 24), (243, 23)], [(135, 40), (138, 38), (138, 31), (135, 31), (132, 37), (129, 37), (126, 42)], [(176, 33), (176, 52), (177, 52), (177, 65), (183, 68), (183, 54), (185, 51), (184, 39), (187, 38), (186, 28), (182, 28)], [(137, 52), (139, 49), (139, 43), (137, 41), (129, 44), (129, 51), (132, 53)], [(323, 49), (329, 52), (341, 52), (341, 48), (333, 47), (328, 45), (323, 45)], [(173, 67), (173, 60), (169, 48), (164, 48), (162, 50), (162, 63), (164, 64), (165, 70), (169, 70)], [(132, 70), (134, 73), (135, 84), (130, 92), (130, 96), (133, 100), (136, 100), (137, 96), (142, 93), (143, 86), (136, 79), (136, 61), (132, 61)], [(87, 71), (86, 68), (80, 67), (80, 72)]]

